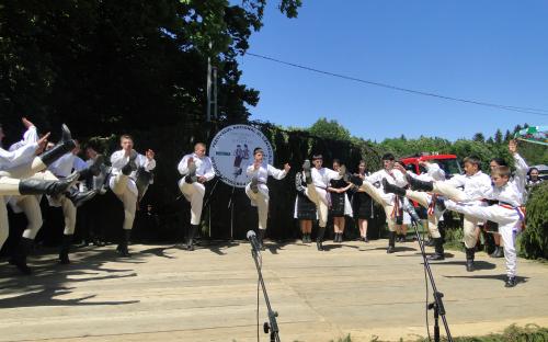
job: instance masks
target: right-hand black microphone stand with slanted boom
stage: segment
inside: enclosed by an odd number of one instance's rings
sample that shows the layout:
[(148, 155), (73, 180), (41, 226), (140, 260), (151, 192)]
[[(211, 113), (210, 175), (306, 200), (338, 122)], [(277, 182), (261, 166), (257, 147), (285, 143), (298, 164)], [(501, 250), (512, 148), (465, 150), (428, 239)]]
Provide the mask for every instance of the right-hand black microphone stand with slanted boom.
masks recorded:
[[(416, 236), (416, 242), (419, 242), (419, 247), (421, 248), (421, 254), (423, 259), (424, 272), (427, 273), (430, 285), (432, 286), (434, 301), (429, 304), (429, 310), (434, 310), (434, 342), (439, 342), (439, 316), (442, 317), (442, 321), (445, 328), (445, 334), (447, 335), (447, 341), (453, 342), (453, 338), (449, 331), (449, 324), (447, 323), (447, 319), (445, 318), (445, 307), (443, 303), (444, 294), (437, 290), (436, 282), (434, 281), (434, 276), (432, 275), (432, 269), (430, 267), (429, 259), (426, 258), (426, 251), (424, 250), (424, 242), (421, 240), (421, 236), (419, 235), (418, 225), (421, 225), (414, 216), (416, 213), (413, 208), (404, 207), (406, 212), (408, 212), (409, 216), (411, 216), (412, 226), (414, 228), (414, 233)], [(414, 216), (413, 216), (414, 215)], [(424, 228), (423, 228), (424, 230)], [(427, 284), (426, 284), (427, 288)], [(430, 338), (430, 337), (429, 337)]]

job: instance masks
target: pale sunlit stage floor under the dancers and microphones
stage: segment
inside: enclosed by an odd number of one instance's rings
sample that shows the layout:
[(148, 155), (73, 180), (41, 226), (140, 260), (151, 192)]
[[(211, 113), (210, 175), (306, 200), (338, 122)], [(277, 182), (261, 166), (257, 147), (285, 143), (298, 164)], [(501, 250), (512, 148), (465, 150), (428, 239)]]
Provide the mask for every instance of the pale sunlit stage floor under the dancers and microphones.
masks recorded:
[[(416, 242), (266, 242), (263, 273), (282, 341), (414, 340), (425, 335), (425, 286)], [(205, 244), (205, 242), (204, 242)], [(179, 246), (55, 250), (31, 256), (33, 276), (0, 262), (0, 341), (256, 341), (256, 271), (247, 242), (187, 252)], [(429, 248), (429, 251), (432, 249)], [(548, 327), (548, 265), (518, 261), (520, 283), (504, 288), (504, 259), (477, 254), (478, 271), (448, 251), (433, 263), (452, 334)], [(431, 297), (429, 297), (431, 299)], [(266, 307), (260, 294), (260, 323)], [(432, 311), (430, 311), (432, 326)], [(432, 332), (432, 330), (431, 330)], [(261, 341), (269, 337), (261, 331)]]

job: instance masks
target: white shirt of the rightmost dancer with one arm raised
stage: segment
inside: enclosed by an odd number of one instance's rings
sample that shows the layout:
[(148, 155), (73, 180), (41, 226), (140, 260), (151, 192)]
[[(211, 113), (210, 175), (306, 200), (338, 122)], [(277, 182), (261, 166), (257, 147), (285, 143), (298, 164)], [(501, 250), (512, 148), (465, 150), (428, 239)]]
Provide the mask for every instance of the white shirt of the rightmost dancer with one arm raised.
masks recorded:
[(517, 153), (514, 155), (514, 161), (516, 167), (514, 176), (503, 186), (491, 186), (491, 191), (486, 194), (486, 198), (504, 202), (514, 207), (525, 204), (525, 183), (529, 168)]

